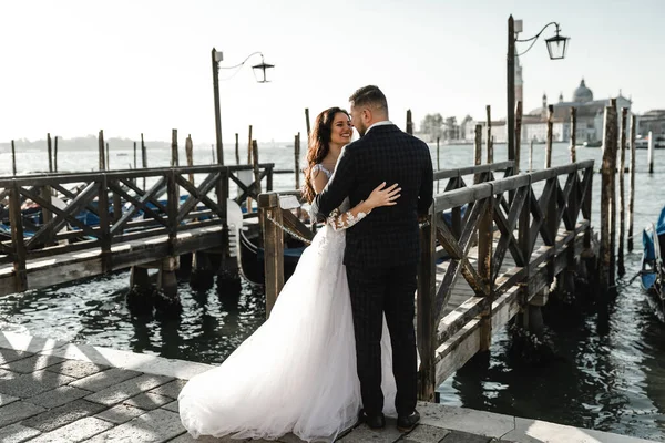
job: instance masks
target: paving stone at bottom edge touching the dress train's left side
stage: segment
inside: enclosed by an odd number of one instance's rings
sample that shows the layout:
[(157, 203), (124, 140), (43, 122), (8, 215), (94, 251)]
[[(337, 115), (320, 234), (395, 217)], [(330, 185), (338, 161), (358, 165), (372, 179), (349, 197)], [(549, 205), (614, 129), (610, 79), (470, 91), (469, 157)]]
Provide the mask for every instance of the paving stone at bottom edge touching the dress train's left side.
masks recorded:
[(120, 426), (113, 427), (102, 434), (95, 435), (86, 443), (153, 443), (166, 442), (185, 430), (181, 424), (178, 414), (163, 409), (146, 412)]

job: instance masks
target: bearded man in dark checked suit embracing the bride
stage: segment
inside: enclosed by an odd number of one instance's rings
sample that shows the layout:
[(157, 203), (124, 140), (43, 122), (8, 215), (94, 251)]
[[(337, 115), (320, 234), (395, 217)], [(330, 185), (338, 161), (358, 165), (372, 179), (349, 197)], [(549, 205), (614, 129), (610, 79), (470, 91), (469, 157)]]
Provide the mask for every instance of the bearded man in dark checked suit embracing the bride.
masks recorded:
[(418, 216), (427, 214), (432, 202), (432, 162), (426, 143), (388, 120), (388, 103), (377, 86), (359, 89), (349, 102), (351, 124), (360, 138), (342, 150), (332, 177), (313, 203), (313, 213), (319, 219), (327, 217), (347, 196), (354, 207), (381, 182), (401, 187), (397, 205), (374, 209), (347, 230), (344, 264), (354, 312), (361, 419), (372, 429), (386, 425), (380, 348), (385, 313), (397, 382), (397, 425), (406, 432), (420, 420), (413, 330)]

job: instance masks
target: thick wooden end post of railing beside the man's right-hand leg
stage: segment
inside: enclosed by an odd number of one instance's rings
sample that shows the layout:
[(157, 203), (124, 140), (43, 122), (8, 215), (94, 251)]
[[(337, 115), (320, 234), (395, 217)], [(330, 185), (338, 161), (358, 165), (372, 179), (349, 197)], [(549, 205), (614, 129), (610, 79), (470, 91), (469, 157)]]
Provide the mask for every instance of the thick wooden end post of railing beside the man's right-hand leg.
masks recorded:
[(420, 228), (420, 266), (418, 267), (418, 296), (416, 318), (416, 339), (420, 352), (420, 371), (418, 372), (418, 399), (433, 401), (437, 389), (437, 327), (438, 312), (434, 312), (437, 295), (437, 224), (434, 208), (430, 206), (424, 226)]

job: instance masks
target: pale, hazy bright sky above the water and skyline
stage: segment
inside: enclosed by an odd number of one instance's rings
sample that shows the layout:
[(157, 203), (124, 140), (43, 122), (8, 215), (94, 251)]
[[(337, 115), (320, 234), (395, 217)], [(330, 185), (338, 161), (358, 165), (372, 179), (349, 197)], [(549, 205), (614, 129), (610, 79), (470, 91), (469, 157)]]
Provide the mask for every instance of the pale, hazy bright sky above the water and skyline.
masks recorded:
[[(665, 107), (663, 0), (0, 0), (0, 143), (172, 128), (213, 143), (213, 48), (225, 145), (248, 125), (259, 143), (291, 141), (306, 107), (314, 122), (366, 84), (402, 128), (408, 109), (417, 126), (428, 113), (484, 120), (488, 104), (503, 119), (511, 13), (520, 38), (551, 21), (571, 38), (565, 60), (548, 56), (553, 27), (521, 58), (526, 110), (543, 93), (571, 100), (582, 78), (595, 99)], [(276, 66), (270, 83), (255, 81), (260, 56), (226, 69), (255, 51)]]

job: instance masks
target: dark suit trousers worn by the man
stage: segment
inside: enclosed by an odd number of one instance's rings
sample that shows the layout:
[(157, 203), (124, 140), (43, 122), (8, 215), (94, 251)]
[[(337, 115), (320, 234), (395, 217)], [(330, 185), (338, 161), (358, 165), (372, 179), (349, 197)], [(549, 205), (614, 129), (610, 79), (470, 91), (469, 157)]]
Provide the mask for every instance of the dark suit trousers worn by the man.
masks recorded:
[(347, 265), (358, 378), (362, 406), (369, 415), (379, 414), (383, 410), (383, 312), (392, 344), (392, 373), (397, 384), (395, 406), (400, 415), (408, 415), (416, 409), (418, 362), (413, 316), (417, 270), (417, 264), (379, 268)]

